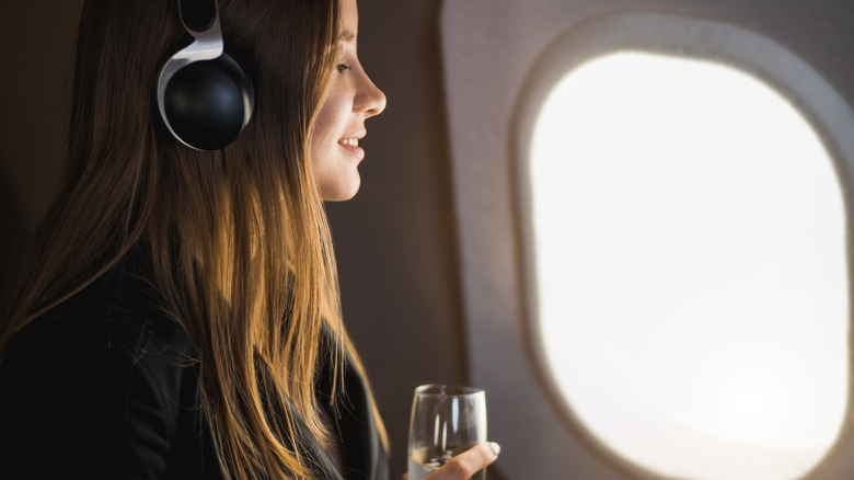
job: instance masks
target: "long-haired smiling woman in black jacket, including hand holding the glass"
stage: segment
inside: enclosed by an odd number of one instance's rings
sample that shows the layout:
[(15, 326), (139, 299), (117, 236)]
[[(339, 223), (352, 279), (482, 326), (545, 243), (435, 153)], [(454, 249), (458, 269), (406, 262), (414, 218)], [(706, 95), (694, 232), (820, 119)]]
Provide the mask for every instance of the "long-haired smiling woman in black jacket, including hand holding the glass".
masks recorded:
[(3, 477), (385, 479), (323, 208), (356, 194), (385, 106), (356, 1), (219, 2), (254, 107), (209, 151), (152, 106), (187, 43), (176, 3), (83, 9), (64, 188), (2, 317)]

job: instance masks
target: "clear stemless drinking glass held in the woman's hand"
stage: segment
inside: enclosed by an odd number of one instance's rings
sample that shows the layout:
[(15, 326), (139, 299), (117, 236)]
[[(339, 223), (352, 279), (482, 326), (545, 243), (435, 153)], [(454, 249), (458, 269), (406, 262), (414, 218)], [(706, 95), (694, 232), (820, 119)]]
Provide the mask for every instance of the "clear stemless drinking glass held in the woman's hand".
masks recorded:
[[(422, 480), (453, 456), (486, 442), (486, 392), (452, 385), (415, 389), (409, 418), (409, 480)], [(486, 480), (486, 469), (472, 479)]]

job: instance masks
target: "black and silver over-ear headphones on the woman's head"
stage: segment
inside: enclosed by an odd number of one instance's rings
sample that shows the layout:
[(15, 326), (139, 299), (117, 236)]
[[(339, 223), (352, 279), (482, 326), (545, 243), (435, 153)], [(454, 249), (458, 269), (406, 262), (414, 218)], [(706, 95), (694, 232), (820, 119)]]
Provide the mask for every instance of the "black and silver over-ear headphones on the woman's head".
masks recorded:
[(194, 41), (160, 69), (160, 117), (187, 147), (219, 150), (234, 141), (252, 117), (252, 80), (226, 52), (217, 0), (180, 0), (178, 10)]

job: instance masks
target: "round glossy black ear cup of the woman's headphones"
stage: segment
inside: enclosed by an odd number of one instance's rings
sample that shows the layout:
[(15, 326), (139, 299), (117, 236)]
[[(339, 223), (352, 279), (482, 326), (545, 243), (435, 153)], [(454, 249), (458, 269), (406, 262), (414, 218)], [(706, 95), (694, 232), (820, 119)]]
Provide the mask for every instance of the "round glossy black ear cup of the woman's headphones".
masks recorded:
[(199, 150), (218, 150), (234, 141), (252, 117), (252, 81), (236, 59), (189, 64), (170, 79), (163, 106), (178, 140)]

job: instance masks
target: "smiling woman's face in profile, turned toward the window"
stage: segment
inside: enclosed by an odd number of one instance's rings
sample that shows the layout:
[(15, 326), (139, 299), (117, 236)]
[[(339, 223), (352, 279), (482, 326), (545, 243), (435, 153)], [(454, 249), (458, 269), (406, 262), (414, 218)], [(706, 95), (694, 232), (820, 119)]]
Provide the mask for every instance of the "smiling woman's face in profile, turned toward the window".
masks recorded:
[(385, 95), (368, 78), (356, 55), (359, 14), (356, 0), (341, 0), (338, 61), (310, 139), (311, 167), (325, 201), (353, 198), (359, 190), (365, 119), (385, 108)]

